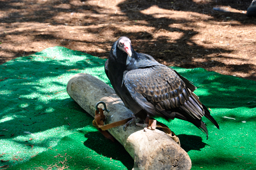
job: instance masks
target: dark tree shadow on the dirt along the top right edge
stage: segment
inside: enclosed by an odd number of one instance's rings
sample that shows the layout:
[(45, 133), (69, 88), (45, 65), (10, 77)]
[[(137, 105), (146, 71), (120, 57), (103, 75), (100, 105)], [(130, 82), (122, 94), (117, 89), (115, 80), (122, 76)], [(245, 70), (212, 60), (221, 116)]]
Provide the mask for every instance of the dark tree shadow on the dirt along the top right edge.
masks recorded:
[[(223, 6), (232, 6), (233, 8), (246, 11), (251, 3), (251, 0), (214, 0), (214, 1), (195, 1), (195, 0), (181, 0), (170, 2), (168, 0), (126, 0), (122, 3), (119, 3), (120, 9), (127, 14), (128, 17), (132, 19), (145, 19), (150, 20), (150, 17), (141, 15), (141, 11), (150, 8), (151, 6), (158, 6), (160, 9), (175, 10), (175, 11), (184, 11), (184, 12), (195, 12), (200, 14), (207, 14), (212, 16), (212, 19), (215, 21), (227, 21), (227, 17), (232, 17), (233, 20), (241, 22), (241, 24), (250, 24), (251, 20), (246, 17), (245, 13), (238, 12), (220, 12), (214, 11), (212, 8), (216, 5)], [(130, 12), (129, 12), (130, 11)], [(133, 12), (131, 12), (133, 11)], [(223, 16), (225, 15), (225, 16)], [(162, 21), (164, 18), (161, 18)], [(246, 22), (244, 22), (245, 20)], [(166, 21), (166, 20), (164, 20)], [(161, 21), (160, 21), (161, 22)], [(159, 22), (159, 23), (160, 23)], [(256, 24), (256, 22), (252, 22)]]

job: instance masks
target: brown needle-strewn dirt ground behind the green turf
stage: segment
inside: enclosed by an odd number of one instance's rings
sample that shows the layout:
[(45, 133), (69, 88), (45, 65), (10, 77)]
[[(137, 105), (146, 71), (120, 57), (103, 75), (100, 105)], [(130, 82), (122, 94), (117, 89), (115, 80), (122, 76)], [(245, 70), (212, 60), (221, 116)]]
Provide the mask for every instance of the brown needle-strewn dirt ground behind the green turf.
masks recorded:
[[(256, 81), (251, 0), (0, 0), (0, 66), (64, 46), (101, 58), (120, 36), (167, 66)], [(227, 12), (216, 11), (224, 9)]]

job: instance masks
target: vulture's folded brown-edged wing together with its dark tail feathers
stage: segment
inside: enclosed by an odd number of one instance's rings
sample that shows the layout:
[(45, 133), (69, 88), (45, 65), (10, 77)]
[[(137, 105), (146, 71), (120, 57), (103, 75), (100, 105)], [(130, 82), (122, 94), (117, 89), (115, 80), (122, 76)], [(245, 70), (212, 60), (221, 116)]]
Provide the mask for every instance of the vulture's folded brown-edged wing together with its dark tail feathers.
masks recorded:
[[(188, 80), (184, 83), (183, 79), (169, 67), (152, 66), (129, 71), (125, 75), (125, 86), (132, 96), (140, 96), (140, 101), (137, 101), (138, 97), (134, 100), (149, 114), (189, 121), (208, 136), (207, 127), (201, 118), (205, 116), (216, 127), (218, 124), (193, 92), (196, 87), (192, 87)], [(150, 104), (154, 108), (149, 107)]]

